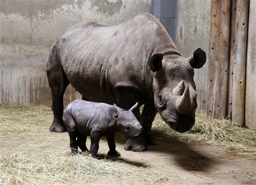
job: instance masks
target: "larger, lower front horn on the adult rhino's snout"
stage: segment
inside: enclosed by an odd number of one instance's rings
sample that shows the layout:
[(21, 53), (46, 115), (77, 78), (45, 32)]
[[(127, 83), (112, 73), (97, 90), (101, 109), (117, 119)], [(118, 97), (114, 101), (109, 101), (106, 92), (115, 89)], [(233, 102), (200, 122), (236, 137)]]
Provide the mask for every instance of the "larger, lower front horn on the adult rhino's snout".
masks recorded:
[(191, 101), (188, 85), (186, 85), (182, 96), (176, 100), (175, 108), (181, 114), (185, 114), (191, 111)]

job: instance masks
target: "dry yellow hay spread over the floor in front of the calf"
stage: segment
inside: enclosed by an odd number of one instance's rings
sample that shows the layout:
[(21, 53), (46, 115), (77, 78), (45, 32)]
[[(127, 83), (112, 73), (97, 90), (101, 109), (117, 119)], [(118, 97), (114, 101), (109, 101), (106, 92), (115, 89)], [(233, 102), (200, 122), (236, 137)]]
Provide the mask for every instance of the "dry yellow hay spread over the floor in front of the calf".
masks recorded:
[[(96, 160), (69, 152), (14, 152), (0, 158), (0, 183), (7, 184), (88, 184), (97, 178), (120, 178), (129, 183), (157, 183), (180, 177), (160, 173), (148, 167), (137, 167), (121, 160)], [(119, 182), (121, 183), (121, 182)]]

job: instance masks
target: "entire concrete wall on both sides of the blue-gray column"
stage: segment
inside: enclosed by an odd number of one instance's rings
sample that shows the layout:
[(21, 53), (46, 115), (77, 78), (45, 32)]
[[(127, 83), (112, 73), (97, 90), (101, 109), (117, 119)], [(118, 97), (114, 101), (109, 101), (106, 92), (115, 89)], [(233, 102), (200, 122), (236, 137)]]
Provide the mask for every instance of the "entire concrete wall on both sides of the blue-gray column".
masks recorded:
[[(208, 55), (210, 0), (175, 3), (176, 37), (172, 39), (177, 48), (187, 57), (197, 47)], [(73, 24), (118, 23), (137, 13), (150, 12), (150, 8), (151, 0), (0, 0), (0, 105), (51, 103), (45, 74), (48, 49)], [(160, 11), (159, 17), (163, 17)], [(195, 69), (197, 101), (202, 109), (206, 76), (207, 64)], [(71, 87), (66, 89), (66, 103), (77, 97), (79, 94)]]

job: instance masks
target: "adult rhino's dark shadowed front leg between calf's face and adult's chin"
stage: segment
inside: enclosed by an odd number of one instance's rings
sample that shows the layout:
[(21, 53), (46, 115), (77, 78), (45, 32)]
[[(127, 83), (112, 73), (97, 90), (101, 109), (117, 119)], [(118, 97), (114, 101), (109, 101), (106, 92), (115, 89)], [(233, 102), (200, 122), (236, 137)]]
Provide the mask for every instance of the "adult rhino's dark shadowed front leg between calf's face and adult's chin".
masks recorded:
[(142, 117), (142, 127), (143, 127), (143, 138), (148, 145), (155, 144), (155, 138), (151, 133), (151, 126), (154, 120), (154, 117), (157, 113), (157, 110), (154, 107), (154, 102), (145, 103), (141, 117)]

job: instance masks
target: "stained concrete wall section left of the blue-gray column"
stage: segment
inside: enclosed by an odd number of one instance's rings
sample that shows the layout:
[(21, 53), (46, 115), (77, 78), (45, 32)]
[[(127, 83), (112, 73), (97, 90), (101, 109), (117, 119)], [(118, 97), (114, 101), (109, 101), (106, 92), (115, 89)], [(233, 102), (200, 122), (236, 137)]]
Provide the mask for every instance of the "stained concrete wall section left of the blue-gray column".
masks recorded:
[[(149, 12), (151, 0), (0, 0), (0, 106), (50, 104), (49, 47), (77, 22), (113, 24)], [(66, 89), (65, 101), (78, 93)]]

